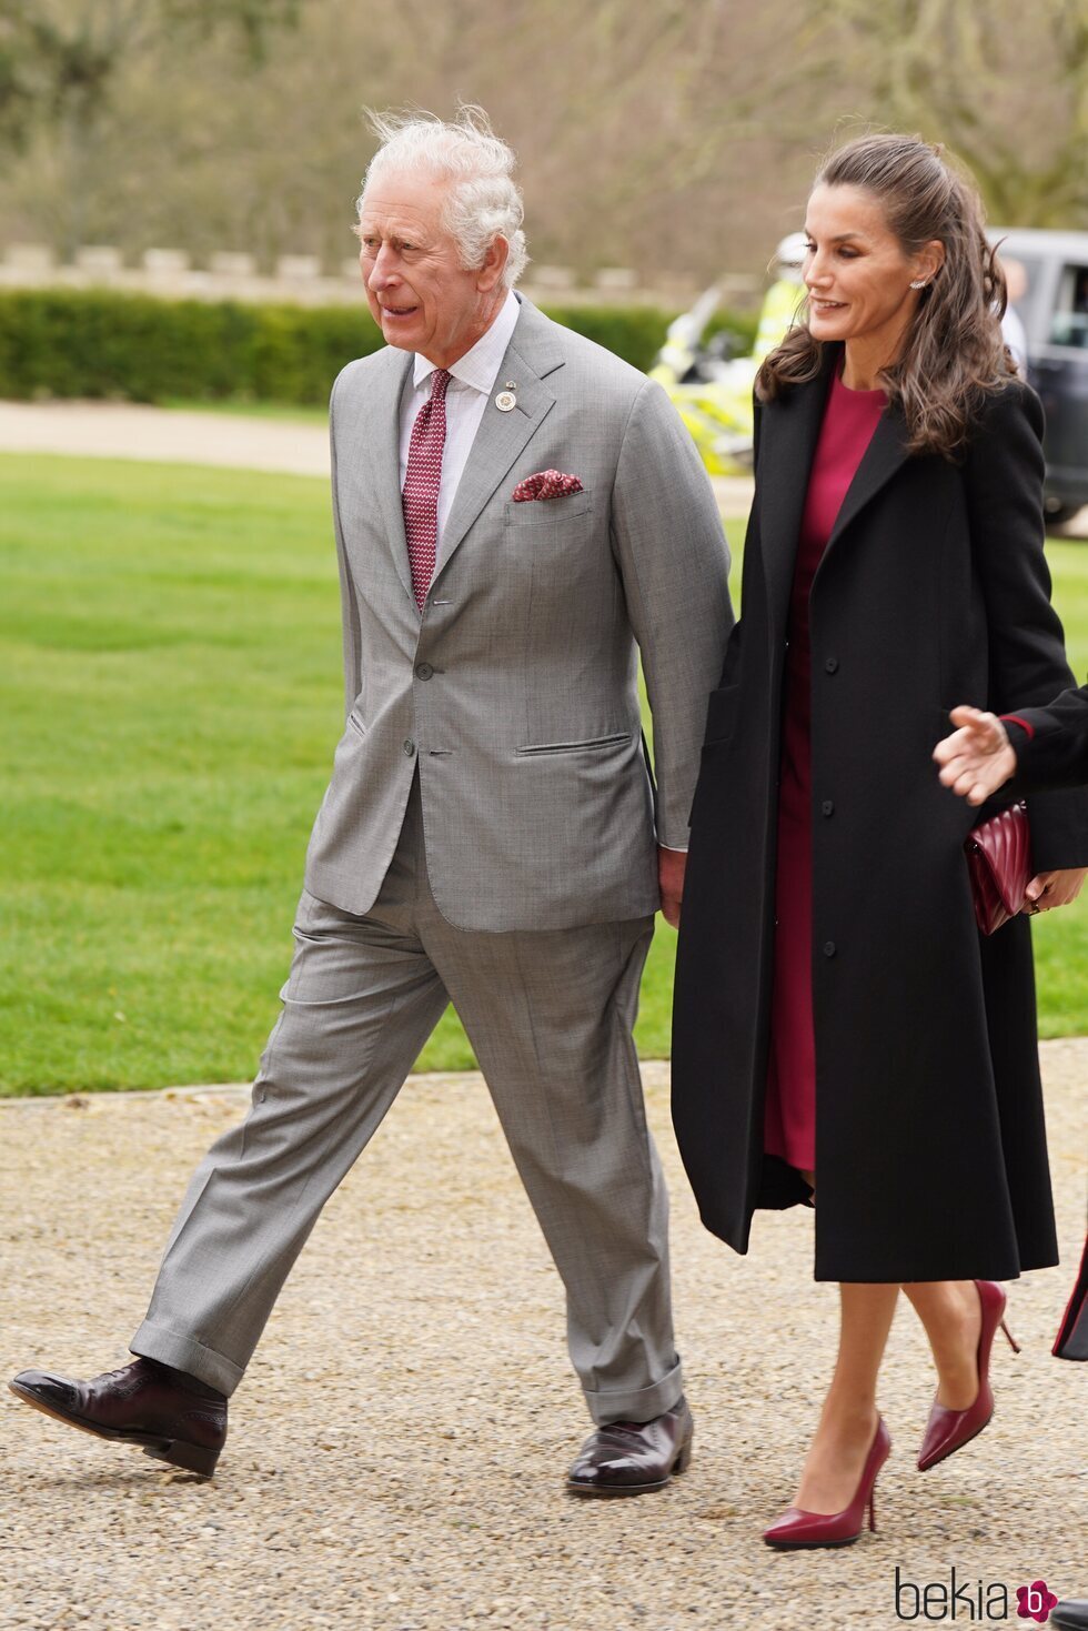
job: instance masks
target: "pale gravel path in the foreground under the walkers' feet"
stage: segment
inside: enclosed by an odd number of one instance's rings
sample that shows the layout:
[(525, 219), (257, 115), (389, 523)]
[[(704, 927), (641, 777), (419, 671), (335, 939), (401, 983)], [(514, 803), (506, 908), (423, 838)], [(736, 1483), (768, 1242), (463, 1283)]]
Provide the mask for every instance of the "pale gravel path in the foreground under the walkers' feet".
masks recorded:
[[(1088, 1041), (1046, 1044), (1044, 1068), (1064, 1267), (1013, 1288), (1024, 1352), (995, 1352), (998, 1416), (925, 1476), (933, 1383), (902, 1306), (879, 1533), (858, 1546), (760, 1541), (832, 1360), (811, 1215), (763, 1213), (747, 1259), (711, 1240), (667, 1127), (667, 1067), (644, 1067), (697, 1450), (664, 1494), (573, 1501), (563, 1473), (587, 1422), (558, 1279), (481, 1080), (419, 1076), (290, 1277), (212, 1483), (2, 1395), (0, 1626), (882, 1631), (902, 1623), (897, 1566), (944, 1587), (954, 1567), (975, 1620), (977, 1582), (990, 1605), (1006, 1587), (1010, 1616), (990, 1624), (1024, 1624), (1015, 1587), (1039, 1577), (1088, 1593), (1088, 1367), (1049, 1357), (1085, 1220)], [(5, 1373), (126, 1362), (184, 1179), (245, 1103), (207, 1088), (0, 1107)], [(928, 1602), (923, 1623), (940, 1618)], [(900, 1613), (917, 1607), (904, 1587)], [(956, 1623), (971, 1623), (962, 1597)]]

